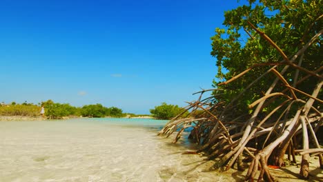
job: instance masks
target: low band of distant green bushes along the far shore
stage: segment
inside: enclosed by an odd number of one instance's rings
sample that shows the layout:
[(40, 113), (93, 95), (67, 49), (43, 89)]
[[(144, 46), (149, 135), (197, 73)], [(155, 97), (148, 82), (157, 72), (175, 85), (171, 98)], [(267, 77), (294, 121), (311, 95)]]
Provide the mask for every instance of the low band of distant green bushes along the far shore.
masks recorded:
[[(64, 117), (145, 117), (151, 116), (155, 119), (172, 119), (177, 115), (184, 112), (183, 108), (178, 105), (171, 105), (167, 103), (161, 103), (161, 105), (155, 106), (150, 110), (149, 114), (132, 114), (124, 113), (120, 108), (110, 107), (106, 108), (100, 103), (92, 105), (84, 105), (82, 107), (75, 107), (69, 103), (55, 103), (52, 100), (43, 101), (38, 104), (34, 103), (16, 103), (10, 104), (1, 103), (0, 116), (28, 116), (37, 117), (40, 115), (41, 107), (45, 109), (45, 117), (48, 119), (63, 119)], [(184, 112), (182, 116), (188, 116), (189, 112)], [(194, 117), (190, 113), (191, 117)]]

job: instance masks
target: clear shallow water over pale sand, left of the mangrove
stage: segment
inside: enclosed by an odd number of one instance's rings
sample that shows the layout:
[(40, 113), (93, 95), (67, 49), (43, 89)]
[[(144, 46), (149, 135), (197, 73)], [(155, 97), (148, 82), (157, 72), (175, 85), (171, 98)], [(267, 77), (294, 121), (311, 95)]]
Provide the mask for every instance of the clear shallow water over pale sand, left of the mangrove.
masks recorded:
[(187, 141), (156, 136), (166, 121), (0, 122), (0, 181), (213, 181)]

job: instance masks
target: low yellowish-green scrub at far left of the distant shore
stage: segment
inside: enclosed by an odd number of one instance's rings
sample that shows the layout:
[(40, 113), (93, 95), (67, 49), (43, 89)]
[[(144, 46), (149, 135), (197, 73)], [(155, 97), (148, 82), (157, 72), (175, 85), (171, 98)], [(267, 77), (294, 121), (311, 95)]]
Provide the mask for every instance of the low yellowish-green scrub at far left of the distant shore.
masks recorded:
[(17, 104), (0, 106), (1, 116), (39, 116), (39, 107), (32, 104)]

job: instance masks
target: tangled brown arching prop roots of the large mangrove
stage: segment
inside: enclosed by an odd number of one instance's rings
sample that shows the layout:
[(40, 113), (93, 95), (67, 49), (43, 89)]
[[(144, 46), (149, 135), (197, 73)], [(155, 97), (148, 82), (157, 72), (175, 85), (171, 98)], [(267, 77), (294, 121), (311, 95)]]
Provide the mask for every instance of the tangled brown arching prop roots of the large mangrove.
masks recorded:
[[(323, 149), (320, 148), (317, 140), (317, 131), (323, 125), (323, 112), (321, 111), (322, 108), (315, 108), (313, 106), (314, 103), (316, 105), (322, 105), (323, 103), (322, 99), (318, 98), (323, 85), (323, 66), (317, 70), (310, 71), (302, 68), (302, 61), (306, 49), (317, 41), (318, 37), (323, 34), (323, 30), (318, 32), (308, 43), (300, 48), (293, 57), (288, 58), (282, 49), (271, 41), (266, 34), (257, 30), (254, 26), (252, 27), (280, 52), (284, 61), (266, 64), (273, 66), (247, 85), (229, 103), (217, 102), (217, 95), (202, 99), (202, 95), (205, 92), (221, 92), (221, 90), (213, 89), (197, 92), (200, 94), (199, 99), (188, 103), (186, 110), (190, 110), (191, 113), (197, 110), (202, 112), (194, 118), (178, 119), (179, 116), (175, 117), (175, 119), (170, 120), (164, 126), (159, 135), (170, 136), (170, 134), (177, 132), (174, 141), (176, 142), (186, 128), (192, 128), (188, 137), (200, 145), (196, 152), (204, 152), (204, 154), (208, 155), (208, 159), (218, 159), (215, 167), (221, 167), (226, 170), (233, 167), (235, 163), (237, 163), (239, 168), (239, 157), (242, 154), (246, 158), (251, 158), (252, 161), (246, 174), (246, 180), (249, 181), (253, 181), (256, 178), (258, 169), (260, 169), (258, 181), (262, 179), (275, 181), (268, 170), (269, 161), (271, 165), (282, 166), (284, 165), (284, 154), (286, 152), (288, 152), (288, 158), (293, 156), (293, 161), (295, 161), (295, 153), (298, 153), (302, 155), (300, 176), (307, 179), (309, 178), (310, 154), (319, 156), (320, 166), (323, 168)], [(299, 59), (298, 64), (295, 64), (294, 62), (297, 59)], [(238, 81), (239, 77), (242, 77), (246, 72), (263, 65), (254, 65), (222, 84), (231, 84), (231, 82)], [(284, 65), (284, 68), (279, 72), (277, 65)], [(284, 77), (284, 73), (290, 69), (295, 70), (293, 85), (289, 85)], [(299, 72), (307, 75), (299, 78)], [(252, 114), (231, 118), (228, 112), (234, 110), (235, 107), (239, 107), (239, 105), (235, 105), (239, 97), (266, 74), (274, 74), (276, 79), (268, 87), (263, 97), (249, 105), (249, 108), (253, 109)], [(306, 93), (297, 88), (298, 84), (312, 77), (317, 79), (317, 83), (311, 93)], [(285, 85), (284, 90), (277, 92), (277, 83)], [(302, 95), (303, 100), (297, 98), (297, 95)], [(284, 100), (271, 112), (268, 112), (266, 116), (260, 116), (262, 109), (266, 105), (271, 105), (277, 98)], [(299, 105), (299, 108), (294, 111), (295, 113), (291, 114), (291, 107), (296, 103)], [(279, 117), (277, 117), (278, 111), (280, 111)], [(274, 115), (275, 117), (273, 117)], [(288, 119), (288, 116), (291, 115), (293, 117)], [(297, 141), (296, 138), (301, 138), (302, 141)], [(313, 145), (310, 145), (310, 142)], [(297, 143), (302, 148), (299, 148)], [(195, 152), (192, 153), (195, 154)]]

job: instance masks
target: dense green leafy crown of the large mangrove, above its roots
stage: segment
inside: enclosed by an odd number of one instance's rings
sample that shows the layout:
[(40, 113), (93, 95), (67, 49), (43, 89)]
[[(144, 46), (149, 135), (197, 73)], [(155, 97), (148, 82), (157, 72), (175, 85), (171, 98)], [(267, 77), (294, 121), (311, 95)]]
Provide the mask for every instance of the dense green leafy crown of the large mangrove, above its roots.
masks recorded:
[[(253, 68), (240, 77), (234, 83), (228, 85), (218, 85), (223, 81), (237, 76), (247, 68), (257, 63), (280, 63), (282, 56), (273, 46), (255, 32), (248, 21), (258, 30), (264, 32), (275, 42), (287, 55), (292, 57), (297, 50), (300, 50), (317, 32), (323, 27), (323, 8), (321, 0), (311, 1), (249, 1), (249, 5), (240, 6), (235, 10), (224, 13), (224, 26), (226, 28), (216, 28), (215, 36), (211, 38), (213, 50), (211, 54), (217, 59), (219, 68), (217, 80), (213, 81), (215, 88), (223, 88), (226, 91), (215, 91), (217, 101), (231, 101), (242, 89), (260, 77), (271, 65), (262, 65)], [(319, 18), (320, 17), (320, 18)], [(322, 36), (319, 41), (313, 43), (304, 53), (302, 67), (307, 70), (317, 70), (322, 65)], [(297, 60), (298, 61), (298, 60)], [(297, 64), (297, 63), (296, 63)], [(284, 65), (277, 67), (280, 71)], [(224, 69), (222, 69), (224, 68)], [(295, 69), (289, 69), (284, 74), (288, 83), (293, 84)], [(300, 78), (306, 75), (300, 72)], [(232, 113), (241, 115), (250, 112), (248, 104), (259, 99), (275, 79), (275, 75), (270, 73), (263, 77), (257, 84), (248, 89), (236, 103), (238, 110)], [(317, 78), (306, 79), (297, 88), (304, 92), (311, 92), (317, 83)], [(284, 84), (277, 85), (273, 92), (284, 90)], [(322, 92), (321, 92), (322, 96)], [(304, 95), (297, 97), (305, 99)], [(271, 104), (271, 110), (281, 103), (276, 99)], [(237, 107), (235, 107), (237, 108)]]

